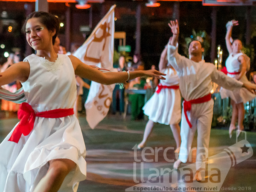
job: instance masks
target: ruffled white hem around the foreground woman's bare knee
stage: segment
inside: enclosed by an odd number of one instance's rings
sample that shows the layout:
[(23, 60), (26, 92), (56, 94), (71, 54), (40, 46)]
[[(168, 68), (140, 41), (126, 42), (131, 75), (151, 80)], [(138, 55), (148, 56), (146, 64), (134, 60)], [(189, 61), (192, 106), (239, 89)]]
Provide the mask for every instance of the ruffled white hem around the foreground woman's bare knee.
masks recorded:
[[(44, 175), (38, 176), (39, 171), (44, 172), (44, 170), (42, 171), (41, 169), (48, 170), (48, 168), (44, 168), (44, 166), (46, 166), (50, 160), (54, 159), (69, 159), (76, 163), (76, 170), (72, 173), (71, 180), (66, 183), (66, 188), (72, 187), (73, 191), (76, 192), (79, 182), (86, 179), (86, 161), (84, 157), (79, 154), (79, 150), (74, 146), (70, 146), (70, 148), (54, 147), (50, 150), (46, 148), (36, 149), (29, 155), (26, 161), (24, 179), (32, 186), (32, 189), (34, 189), (38, 181), (41, 180), (41, 177), (44, 177)], [(64, 184), (63, 182), (61, 188), (65, 188), (65, 186), (63, 186)]]

